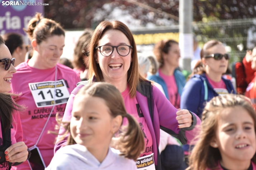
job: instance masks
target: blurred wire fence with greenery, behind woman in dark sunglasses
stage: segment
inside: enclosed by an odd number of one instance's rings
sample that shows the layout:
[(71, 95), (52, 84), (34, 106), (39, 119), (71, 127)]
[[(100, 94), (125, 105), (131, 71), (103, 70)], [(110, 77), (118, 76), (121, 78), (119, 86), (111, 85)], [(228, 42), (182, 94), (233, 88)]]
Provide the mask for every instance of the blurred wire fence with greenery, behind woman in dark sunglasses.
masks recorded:
[[(241, 61), (246, 50), (256, 45), (256, 18), (194, 22), (193, 28), (196, 38), (201, 43), (216, 39), (230, 46), (231, 62)], [(239, 44), (240, 48), (244, 48), (239, 50)]]

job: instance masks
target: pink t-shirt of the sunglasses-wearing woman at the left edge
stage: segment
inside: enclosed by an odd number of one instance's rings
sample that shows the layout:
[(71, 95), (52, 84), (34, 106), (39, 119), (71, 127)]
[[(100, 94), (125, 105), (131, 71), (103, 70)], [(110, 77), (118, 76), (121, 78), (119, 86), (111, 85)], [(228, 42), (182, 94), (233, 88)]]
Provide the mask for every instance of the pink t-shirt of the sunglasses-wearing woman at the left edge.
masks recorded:
[[(11, 127), (11, 144), (15, 144), (16, 142), (23, 141), (23, 133), (22, 133), (22, 125), (20, 123), (20, 115), (18, 111), (13, 111), (12, 113), (12, 127)], [(1, 127), (1, 122), (0, 122)], [(2, 130), (0, 129), (0, 146), (3, 145), (3, 136)], [(0, 164), (0, 170), (8, 170), (9, 165), (8, 161)]]

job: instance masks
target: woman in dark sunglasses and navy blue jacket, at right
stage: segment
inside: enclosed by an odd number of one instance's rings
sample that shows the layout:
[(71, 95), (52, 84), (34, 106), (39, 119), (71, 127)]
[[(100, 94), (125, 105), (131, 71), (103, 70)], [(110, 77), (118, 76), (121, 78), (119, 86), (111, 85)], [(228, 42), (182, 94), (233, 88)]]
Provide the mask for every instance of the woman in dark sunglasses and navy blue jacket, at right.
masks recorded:
[[(206, 102), (214, 96), (236, 93), (232, 82), (222, 77), (227, 71), (230, 55), (221, 42), (211, 40), (205, 43), (201, 59), (195, 65), (180, 100), (181, 109), (188, 109), (199, 117), (202, 116)], [(183, 149), (184, 154), (189, 155), (189, 145), (184, 145)]]

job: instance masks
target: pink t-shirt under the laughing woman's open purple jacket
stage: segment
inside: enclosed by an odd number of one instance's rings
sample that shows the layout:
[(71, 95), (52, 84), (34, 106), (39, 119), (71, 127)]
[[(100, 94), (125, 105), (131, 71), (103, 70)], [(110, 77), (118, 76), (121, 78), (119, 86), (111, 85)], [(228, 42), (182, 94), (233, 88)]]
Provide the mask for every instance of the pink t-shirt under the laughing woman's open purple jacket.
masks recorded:
[[(131, 98), (129, 95), (129, 86), (127, 85), (127, 88), (122, 92), (122, 96), (124, 99), (124, 104), (127, 112), (131, 114), (135, 119), (138, 121), (139, 126), (141, 126), (141, 130), (144, 135), (144, 141), (145, 141), (145, 149), (144, 153), (140, 155), (141, 156), (146, 156), (152, 154), (153, 150), (153, 140), (152, 136), (150, 133), (150, 130), (148, 129), (148, 125), (145, 121), (145, 118), (143, 116), (143, 113), (139, 107), (138, 101), (136, 97)], [(128, 120), (125, 118), (123, 120), (123, 125), (127, 125)]]

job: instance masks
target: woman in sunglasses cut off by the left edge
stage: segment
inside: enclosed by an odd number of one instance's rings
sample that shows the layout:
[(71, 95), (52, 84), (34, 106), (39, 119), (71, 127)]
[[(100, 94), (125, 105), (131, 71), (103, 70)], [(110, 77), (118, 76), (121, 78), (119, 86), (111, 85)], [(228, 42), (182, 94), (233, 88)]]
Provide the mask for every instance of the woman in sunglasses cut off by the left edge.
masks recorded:
[(11, 78), (16, 72), (15, 58), (11, 54), (0, 35), (0, 170), (9, 170), (28, 159), (28, 147), (23, 142), (19, 109), (8, 93), (11, 90)]

